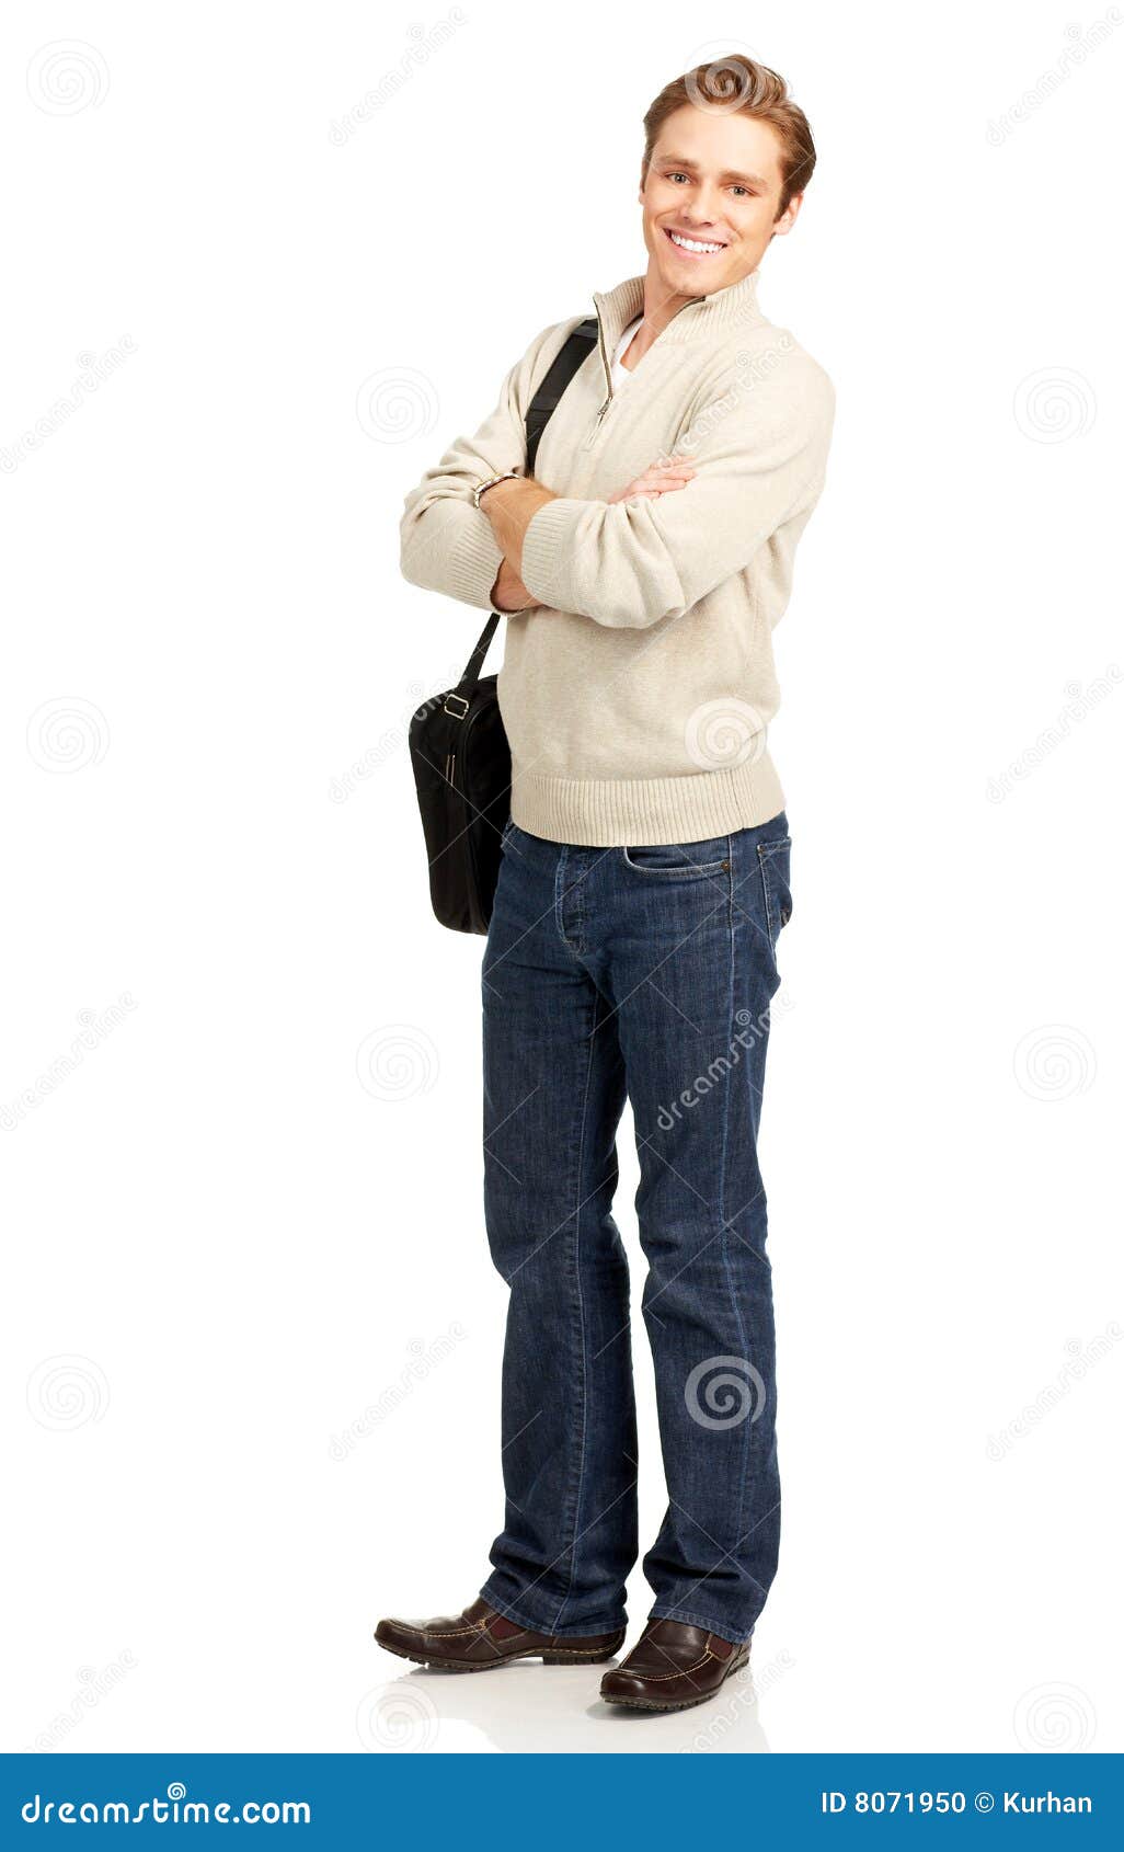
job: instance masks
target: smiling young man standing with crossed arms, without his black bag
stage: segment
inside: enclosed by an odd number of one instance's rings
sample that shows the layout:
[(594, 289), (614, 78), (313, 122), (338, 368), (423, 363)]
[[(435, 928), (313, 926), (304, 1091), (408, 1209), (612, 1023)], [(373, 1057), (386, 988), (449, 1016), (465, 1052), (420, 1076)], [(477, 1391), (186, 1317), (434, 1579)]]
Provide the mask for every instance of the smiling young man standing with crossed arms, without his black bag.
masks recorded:
[(407, 580), (511, 613), (511, 820), (483, 961), (507, 1511), (463, 1613), (376, 1637), (454, 1671), (596, 1663), (624, 1643), (637, 1433), (611, 1202), (628, 1096), (668, 1508), (648, 1624), (602, 1696), (680, 1709), (746, 1663), (778, 1556), (757, 1122), (791, 895), (770, 633), (833, 389), (756, 296), (815, 165), (783, 80), (702, 67), (644, 131), (648, 269), (594, 296), (598, 348), (537, 480), (524, 415), (581, 317), (531, 343), (402, 522)]

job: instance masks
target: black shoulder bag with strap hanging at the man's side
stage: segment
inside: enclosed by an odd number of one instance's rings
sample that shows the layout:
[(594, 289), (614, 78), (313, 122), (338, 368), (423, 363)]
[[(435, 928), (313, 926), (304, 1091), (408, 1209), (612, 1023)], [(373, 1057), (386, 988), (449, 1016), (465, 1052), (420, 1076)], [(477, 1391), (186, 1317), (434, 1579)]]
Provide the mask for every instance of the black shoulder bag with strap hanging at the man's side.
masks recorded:
[[(559, 398), (596, 341), (596, 319), (580, 322), (548, 369), (526, 415), (526, 472)], [(500, 837), (511, 807), (511, 750), (496, 678), (481, 676), (504, 617), (493, 611), (456, 689), (433, 694), (409, 722), (409, 757), (430, 857), (430, 898), (443, 926), (487, 932), (500, 878)]]

